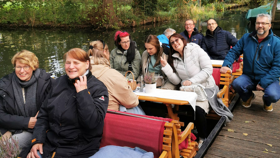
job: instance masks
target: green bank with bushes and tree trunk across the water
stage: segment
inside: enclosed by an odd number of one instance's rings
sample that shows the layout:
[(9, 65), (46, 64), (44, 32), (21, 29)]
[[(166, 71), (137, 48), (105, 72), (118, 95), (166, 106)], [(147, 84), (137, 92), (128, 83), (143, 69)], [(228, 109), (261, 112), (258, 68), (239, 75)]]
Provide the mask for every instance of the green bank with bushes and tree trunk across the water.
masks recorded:
[(215, 17), (237, 4), (268, 0), (0, 0), (0, 26), (130, 27), (163, 20)]

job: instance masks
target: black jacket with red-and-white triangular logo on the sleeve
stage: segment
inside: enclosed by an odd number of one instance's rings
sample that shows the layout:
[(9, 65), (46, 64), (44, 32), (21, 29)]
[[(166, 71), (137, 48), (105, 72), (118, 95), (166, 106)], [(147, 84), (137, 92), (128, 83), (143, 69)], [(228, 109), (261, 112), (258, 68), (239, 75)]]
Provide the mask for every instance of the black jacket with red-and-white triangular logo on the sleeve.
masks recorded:
[(92, 75), (79, 93), (67, 75), (57, 78), (38, 114), (31, 145), (43, 143), (43, 157), (90, 157), (100, 146), (108, 102), (106, 86)]

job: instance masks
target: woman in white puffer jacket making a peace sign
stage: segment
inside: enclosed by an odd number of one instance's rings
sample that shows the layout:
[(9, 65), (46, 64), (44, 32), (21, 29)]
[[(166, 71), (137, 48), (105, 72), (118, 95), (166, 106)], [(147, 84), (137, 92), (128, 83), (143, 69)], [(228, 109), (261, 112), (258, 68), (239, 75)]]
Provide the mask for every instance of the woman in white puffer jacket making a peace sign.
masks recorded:
[[(213, 82), (214, 79), (211, 75), (213, 67), (207, 53), (199, 45), (187, 43), (185, 38), (178, 33), (170, 36), (169, 45), (172, 47), (170, 47), (167, 61), (165, 58), (161, 58), (161, 64), (163, 66), (161, 70), (166, 74), (168, 79), (173, 84), (181, 83), (183, 86), (197, 83), (202, 84), (206, 88), (205, 91), (209, 97), (215, 93), (211, 99), (207, 98), (205, 101), (196, 101), (195, 119), (193, 121), (198, 130), (200, 148), (208, 136), (205, 113), (208, 114), (209, 112), (209, 104), (212, 108), (214, 107), (214, 110), (216, 106), (222, 107), (220, 110), (223, 110), (223, 114), (228, 117), (227, 122), (232, 119), (233, 115), (223, 104), (223, 101), (221, 99), (217, 100), (218, 98), (215, 97), (219, 88)], [(182, 106), (179, 108), (182, 108)]]

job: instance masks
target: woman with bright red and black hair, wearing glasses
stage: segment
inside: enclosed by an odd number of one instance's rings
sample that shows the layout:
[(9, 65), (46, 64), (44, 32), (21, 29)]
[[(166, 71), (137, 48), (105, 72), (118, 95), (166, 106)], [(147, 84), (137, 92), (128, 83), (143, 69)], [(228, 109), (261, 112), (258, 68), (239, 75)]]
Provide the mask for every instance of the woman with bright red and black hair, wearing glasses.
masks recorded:
[[(115, 46), (110, 54), (110, 65), (125, 76), (126, 71), (131, 71), (134, 79), (137, 79), (140, 69), (140, 53), (136, 48), (136, 43), (132, 41), (130, 34), (126, 31), (115, 33)], [(132, 74), (126, 76), (133, 79)]]

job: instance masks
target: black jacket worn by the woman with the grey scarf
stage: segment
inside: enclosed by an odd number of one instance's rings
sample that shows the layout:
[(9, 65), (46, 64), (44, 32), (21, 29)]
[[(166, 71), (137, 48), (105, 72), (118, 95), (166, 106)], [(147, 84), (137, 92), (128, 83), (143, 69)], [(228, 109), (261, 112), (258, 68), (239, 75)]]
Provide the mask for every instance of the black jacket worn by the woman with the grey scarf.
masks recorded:
[[(46, 73), (40, 69), (41, 73), (37, 80), (36, 107), (40, 109), (43, 101), (47, 97), (49, 90), (52, 88), (54, 79), (52, 74)], [(15, 110), (15, 96), (12, 88), (12, 76), (15, 72), (8, 74), (0, 79), (0, 131), (2, 134), (7, 130), (28, 130), (30, 117), (17, 116)], [(33, 116), (34, 117), (34, 116)]]

